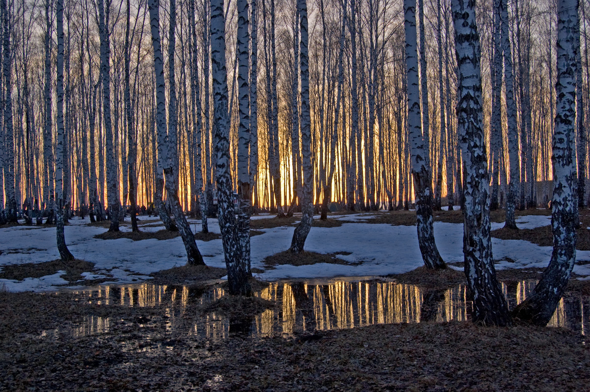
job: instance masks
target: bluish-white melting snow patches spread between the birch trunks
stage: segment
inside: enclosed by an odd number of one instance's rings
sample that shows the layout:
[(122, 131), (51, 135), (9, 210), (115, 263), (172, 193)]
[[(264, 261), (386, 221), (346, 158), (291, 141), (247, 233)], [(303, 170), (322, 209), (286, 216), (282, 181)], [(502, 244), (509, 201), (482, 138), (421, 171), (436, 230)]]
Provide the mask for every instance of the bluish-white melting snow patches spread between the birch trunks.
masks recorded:
[[(273, 215), (264, 215), (271, 218)], [(401, 274), (422, 266), (422, 256), (418, 247), (415, 226), (392, 226), (389, 224), (356, 223), (373, 216), (367, 214), (334, 216), (345, 220), (340, 227), (312, 227), (307, 237), (305, 250), (318, 253), (350, 252), (336, 257), (355, 263), (338, 265), (319, 263), (306, 266), (277, 265), (258, 278), (268, 281), (281, 278), (331, 278), (335, 276), (372, 276)], [(255, 216), (255, 219), (264, 219)], [(154, 226), (157, 218), (140, 218), (140, 230), (157, 231), (163, 226)], [(331, 218), (332, 219), (332, 218)], [(550, 216), (522, 216), (516, 219), (520, 228), (531, 229), (549, 225)], [(95, 235), (106, 232), (99, 226), (87, 226), (88, 219), (74, 218), (65, 226), (65, 241), (78, 259), (95, 263), (92, 272), (85, 272), (87, 279), (110, 279), (116, 284), (139, 282), (150, 279), (153, 272), (182, 266), (186, 263), (186, 253), (181, 238), (164, 241), (146, 239), (103, 240)], [(191, 229), (201, 230), (200, 220), (189, 219)], [(492, 223), (492, 229), (501, 228), (503, 223)], [(122, 226), (123, 228), (123, 226)], [(125, 228), (127, 229), (127, 228)], [(209, 219), (209, 230), (219, 233), (216, 219)], [(293, 226), (262, 229), (262, 235), (251, 238), (252, 268), (265, 269), (263, 260), (274, 253), (289, 249)], [(434, 223), (434, 234), (438, 250), (447, 263), (463, 262), (463, 225), (456, 223)], [(209, 266), (225, 268), (221, 239), (208, 242), (197, 241), (199, 251)], [(492, 238), (493, 255), (497, 261), (496, 269), (504, 268), (545, 268), (552, 252), (550, 246), (538, 246), (528, 241), (501, 240)], [(0, 228), (0, 268), (3, 265), (39, 263), (59, 258), (55, 243), (55, 228), (37, 226), (17, 226)], [(590, 251), (578, 251), (578, 260), (590, 261)], [(455, 269), (461, 269), (455, 266)], [(590, 265), (576, 265), (573, 272), (590, 277)], [(27, 278), (23, 281), (0, 279), (0, 289), (8, 291), (54, 291), (57, 286), (67, 284), (60, 276), (65, 272)]]

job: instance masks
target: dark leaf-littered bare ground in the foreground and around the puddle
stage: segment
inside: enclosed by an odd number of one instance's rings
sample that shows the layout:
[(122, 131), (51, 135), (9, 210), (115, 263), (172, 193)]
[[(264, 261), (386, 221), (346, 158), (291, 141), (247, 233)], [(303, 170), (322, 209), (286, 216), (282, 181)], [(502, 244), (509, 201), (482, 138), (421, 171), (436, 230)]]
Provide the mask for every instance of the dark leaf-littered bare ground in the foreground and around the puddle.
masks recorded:
[[(181, 267), (154, 277), (170, 286), (190, 278), (193, 287), (213, 287), (224, 285), (222, 274)], [(527, 278), (517, 274), (499, 278)], [(423, 268), (393, 278), (431, 290), (464, 280), (453, 269)], [(189, 301), (173, 324), (168, 306), (89, 301), (76, 291), (0, 292), (0, 390), (582, 391), (590, 380), (585, 336), (566, 328), (451, 321), (248, 337), (232, 334), (230, 324), (227, 338), (214, 339), (191, 332), (196, 318), (221, 312), (247, 319), (276, 304)], [(87, 318), (111, 322), (80, 333)]]

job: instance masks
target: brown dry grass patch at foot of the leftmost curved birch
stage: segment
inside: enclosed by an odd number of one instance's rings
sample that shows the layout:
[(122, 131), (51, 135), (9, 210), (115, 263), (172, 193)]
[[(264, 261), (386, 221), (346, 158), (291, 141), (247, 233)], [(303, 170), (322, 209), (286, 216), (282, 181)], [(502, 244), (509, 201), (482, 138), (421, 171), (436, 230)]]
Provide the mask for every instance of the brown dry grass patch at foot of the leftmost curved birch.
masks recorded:
[(5, 265), (2, 266), (2, 272), (0, 272), (0, 278), (2, 279), (14, 279), (16, 281), (22, 281), (25, 278), (41, 278), (41, 276), (53, 275), (57, 271), (65, 271), (61, 278), (66, 281), (73, 283), (82, 279), (82, 272), (92, 271), (94, 263), (73, 260), (73, 261), (47, 261), (44, 263), (24, 263), (18, 265)]

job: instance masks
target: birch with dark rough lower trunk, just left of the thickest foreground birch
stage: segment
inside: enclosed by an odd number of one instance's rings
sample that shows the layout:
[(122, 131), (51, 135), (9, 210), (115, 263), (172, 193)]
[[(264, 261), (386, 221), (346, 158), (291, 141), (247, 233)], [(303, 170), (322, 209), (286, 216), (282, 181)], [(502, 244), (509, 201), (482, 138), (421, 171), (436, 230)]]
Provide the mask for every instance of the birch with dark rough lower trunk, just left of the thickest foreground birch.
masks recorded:
[[(422, 11), (421, 11), (422, 12)], [(420, 91), (418, 77), (418, 51), (416, 31), (416, 0), (404, 0), (405, 27), (405, 58), (406, 75), (408, 79), (408, 128), (411, 138), (412, 177), (414, 177), (414, 193), (416, 198), (416, 219), (418, 243), (422, 259), (427, 268), (440, 269), (446, 265), (438, 253), (434, 242), (434, 228), (432, 226), (432, 197), (430, 176), (422, 135), (422, 120), (420, 118)], [(426, 92), (423, 91), (425, 94)]]

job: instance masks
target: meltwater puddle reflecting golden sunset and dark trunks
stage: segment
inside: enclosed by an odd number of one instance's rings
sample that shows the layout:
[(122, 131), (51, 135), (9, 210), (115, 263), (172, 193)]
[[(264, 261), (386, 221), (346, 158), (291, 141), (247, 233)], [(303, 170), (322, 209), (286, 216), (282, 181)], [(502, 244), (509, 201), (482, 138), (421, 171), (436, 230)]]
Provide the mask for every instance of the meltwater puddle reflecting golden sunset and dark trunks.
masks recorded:
[[(522, 302), (535, 285), (536, 281), (522, 281), (509, 286), (502, 284), (510, 308)], [(464, 321), (470, 319), (471, 312), (467, 291), (466, 285), (427, 292), (414, 285), (396, 282), (273, 282), (255, 295), (276, 302), (277, 308), (238, 321), (216, 312), (201, 315), (194, 310), (194, 305), (207, 304), (223, 297), (225, 291), (221, 288), (199, 291), (186, 286), (142, 284), (102, 286), (78, 294), (93, 304), (158, 307), (164, 312), (167, 331), (186, 328), (186, 318), (189, 318), (191, 327), (186, 333), (218, 340), (232, 335), (270, 337), (373, 324)], [(140, 325), (149, 321), (148, 318), (135, 320)], [(70, 334), (81, 337), (108, 332), (111, 322), (110, 318), (87, 317)], [(549, 325), (588, 334), (590, 298), (562, 299)]]

